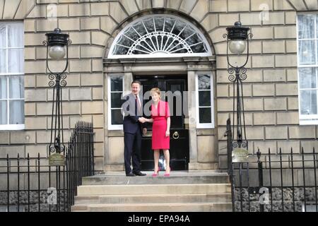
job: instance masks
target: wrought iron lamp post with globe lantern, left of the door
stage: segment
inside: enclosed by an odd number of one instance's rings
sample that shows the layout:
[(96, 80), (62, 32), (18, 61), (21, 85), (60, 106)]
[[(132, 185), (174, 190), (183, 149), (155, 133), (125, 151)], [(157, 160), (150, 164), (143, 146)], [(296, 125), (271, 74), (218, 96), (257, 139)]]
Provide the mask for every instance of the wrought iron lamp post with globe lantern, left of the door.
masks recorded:
[[(51, 153), (64, 153), (63, 137), (63, 112), (62, 112), (62, 88), (66, 86), (66, 69), (69, 66), (69, 35), (63, 34), (59, 28), (53, 32), (45, 34), (47, 40), (43, 44), (47, 47), (47, 70), (49, 71), (49, 87), (53, 88), (52, 99), (52, 121), (51, 121), (51, 141), (49, 144), (49, 155)], [(66, 58), (65, 58), (66, 55)], [(49, 57), (53, 60), (64, 61), (62, 71), (52, 71), (49, 68)], [(62, 62), (63, 64), (63, 62)]]

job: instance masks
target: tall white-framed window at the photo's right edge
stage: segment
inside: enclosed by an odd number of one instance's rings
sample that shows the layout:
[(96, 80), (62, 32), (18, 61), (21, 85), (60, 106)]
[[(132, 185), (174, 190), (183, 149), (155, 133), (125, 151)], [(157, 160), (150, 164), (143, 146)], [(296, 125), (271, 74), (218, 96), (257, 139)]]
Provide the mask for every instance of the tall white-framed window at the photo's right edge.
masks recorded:
[(298, 15), (298, 91), (300, 124), (318, 124), (318, 15)]

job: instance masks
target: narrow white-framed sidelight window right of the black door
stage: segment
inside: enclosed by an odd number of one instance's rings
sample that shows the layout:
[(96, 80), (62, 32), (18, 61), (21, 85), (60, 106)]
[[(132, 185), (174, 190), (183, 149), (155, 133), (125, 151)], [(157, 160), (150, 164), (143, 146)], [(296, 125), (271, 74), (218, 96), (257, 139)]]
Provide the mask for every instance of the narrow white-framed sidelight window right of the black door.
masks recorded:
[(196, 75), (196, 127), (214, 128), (213, 82), (211, 73)]

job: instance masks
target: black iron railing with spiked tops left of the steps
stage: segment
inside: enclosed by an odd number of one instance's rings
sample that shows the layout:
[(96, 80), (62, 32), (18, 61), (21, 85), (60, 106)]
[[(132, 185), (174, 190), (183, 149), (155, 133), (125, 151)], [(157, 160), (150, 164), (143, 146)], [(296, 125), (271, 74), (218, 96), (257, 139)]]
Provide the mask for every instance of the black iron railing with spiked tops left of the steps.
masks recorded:
[[(94, 174), (93, 124), (78, 122), (66, 148), (64, 166), (47, 157), (0, 158), (0, 207), (4, 211), (70, 211), (82, 178)], [(5, 207), (5, 208), (4, 208)]]

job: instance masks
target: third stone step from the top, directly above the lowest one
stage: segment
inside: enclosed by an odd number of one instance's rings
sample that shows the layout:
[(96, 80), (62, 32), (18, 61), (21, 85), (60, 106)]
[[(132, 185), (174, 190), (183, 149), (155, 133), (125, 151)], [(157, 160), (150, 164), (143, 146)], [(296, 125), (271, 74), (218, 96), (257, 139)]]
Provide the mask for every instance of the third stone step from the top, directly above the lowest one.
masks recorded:
[(76, 196), (77, 204), (110, 204), (110, 203), (216, 203), (230, 202), (231, 194), (139, 194), (139, 195), (105, 195)]

